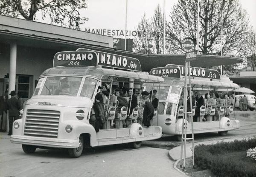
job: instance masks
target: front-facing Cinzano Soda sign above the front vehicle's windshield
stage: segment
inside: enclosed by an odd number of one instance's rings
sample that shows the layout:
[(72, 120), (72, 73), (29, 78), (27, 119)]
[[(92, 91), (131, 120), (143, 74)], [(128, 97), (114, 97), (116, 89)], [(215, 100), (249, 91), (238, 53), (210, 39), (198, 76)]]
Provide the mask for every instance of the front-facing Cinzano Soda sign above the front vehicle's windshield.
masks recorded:
[(61, 51), (53, 59), (53, 67), (57, 66), (97, 67), (97, 55), (93, 51)]

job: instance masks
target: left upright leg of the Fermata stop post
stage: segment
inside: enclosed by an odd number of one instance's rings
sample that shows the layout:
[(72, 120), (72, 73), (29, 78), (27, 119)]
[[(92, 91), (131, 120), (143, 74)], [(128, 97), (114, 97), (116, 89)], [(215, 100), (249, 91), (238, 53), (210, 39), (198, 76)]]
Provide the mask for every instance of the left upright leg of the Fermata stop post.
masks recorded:
[(186, 168), (186, 127), (187, 127), (187, 123), (186, 123), (186, 120), (187, 120), (187, 90), (188, 90), (188, 86), (187, 86), (187, 75), (188, 73), (187, 72), (190, 72), (188, 71), (188, 62), (185, 62), (185, 96), (184, 96), (184, 100), (185, 101), (185, 120), (184, 120), (184, 124), (182, 126), (185, 126), (184, 127), (184, 161), (183, 161), (183, 169)]

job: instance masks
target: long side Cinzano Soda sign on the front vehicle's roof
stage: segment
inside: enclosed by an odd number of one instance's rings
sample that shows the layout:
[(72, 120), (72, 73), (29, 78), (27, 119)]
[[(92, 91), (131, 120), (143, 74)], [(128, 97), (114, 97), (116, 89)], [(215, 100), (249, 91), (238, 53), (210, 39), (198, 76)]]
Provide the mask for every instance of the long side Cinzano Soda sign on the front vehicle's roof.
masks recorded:
[[(77, 51), (83, 51), (89, 49), (77, 49)], [(119, 69), (128, 69), (134, 71), (141, 71), (140, 61), (136, 58), (125, 57), (122, 55), (110, 54), (102, 51), (95, 51), (96, 53), (98, 65), (107, 66), (111, 68), (119, 68)]]

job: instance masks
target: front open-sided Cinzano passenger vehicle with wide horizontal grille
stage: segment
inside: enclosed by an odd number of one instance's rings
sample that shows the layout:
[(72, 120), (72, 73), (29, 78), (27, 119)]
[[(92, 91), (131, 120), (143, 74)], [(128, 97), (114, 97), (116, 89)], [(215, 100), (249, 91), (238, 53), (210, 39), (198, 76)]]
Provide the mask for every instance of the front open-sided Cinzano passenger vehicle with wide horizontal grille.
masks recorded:
[[(139, 60), (131, 57), (87, 49), (56, 53), (53, 67), (39, 77), (22, 118), (14, 122), (11, 142), (22, 144), (25, 153), (33, 153), (36, 148), (67, 148), (70, 157), (79, 157), (84, 146), (130, 143), (139, 148), (142, 141), (160, 138), (160, 126), (137, 123), (137, 108), (129, 115), (131, 125), (123, 128), (128, 108), (123, 106), (116, 118), (119, 103), (113, 95), (112, 105), (104, 103), (105, 124), (98, 132), (92, 120), (97, 90), (103, 83), (108, 83), (110, 90), (119, 83), (133, 87), (143, 82), (164, 83), (162, 77), (140, 71)], [(119, 126), (113, 126), (114, 120)]]

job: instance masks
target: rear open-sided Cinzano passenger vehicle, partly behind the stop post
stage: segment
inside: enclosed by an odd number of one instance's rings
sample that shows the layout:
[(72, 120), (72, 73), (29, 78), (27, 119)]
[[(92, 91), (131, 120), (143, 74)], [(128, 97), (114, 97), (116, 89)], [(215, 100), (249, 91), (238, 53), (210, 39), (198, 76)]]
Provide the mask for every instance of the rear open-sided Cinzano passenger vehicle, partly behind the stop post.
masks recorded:
[[(151, 75), (163, 77), (166, 83), (157, 85), (143, 84), (142, 86), (143, 90), (150, 91), (155, 89), (159, 94), (157, 116), (153, 119), (153, 125), (161, 126), (163, 134), (176, 135), (179, 141), (182, 135), (182, 118), (185, 110), (183, 106), (184, 71), (185, 67), (178, 65), (167, 65), (166, 67), (151, 69)], [(218, 71), (212, 69), (191, 67), (190, 75), (191, 87), (194, 93), (196, 91), (204, 94), (215, 92), (218, 91), (218, 88), (239, 88), (228, 77), (221, 77)], [(195, 117), (197, 103), (192, 103), (192, 105), (193, 108), (190, 114)], [(230, 115), (234, 114), (234, 105), (227, 106), (227, 104), (223, 104), (218, 107), (216, 104), (203, 104), (199, 111), (200, 114), (193, 121), (195, 134), (216, 131), (219, 135), (225, 136), (227, 131), (237, 129), (240, 126), (239, 120), (230, 119)], [(187, 134), (192, 134), (192, 117), (190, 114), (187, 114)]]

